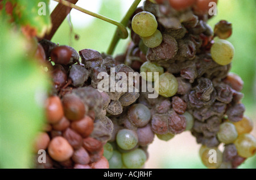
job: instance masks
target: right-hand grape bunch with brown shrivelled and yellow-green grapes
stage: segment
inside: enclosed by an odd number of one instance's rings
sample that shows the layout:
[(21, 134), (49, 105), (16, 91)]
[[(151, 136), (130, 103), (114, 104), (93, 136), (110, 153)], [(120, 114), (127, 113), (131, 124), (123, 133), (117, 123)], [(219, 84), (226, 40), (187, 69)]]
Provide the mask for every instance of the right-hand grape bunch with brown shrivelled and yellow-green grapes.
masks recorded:
[[(229, 72), (234, 47), (226, 39), (232, 24), (221, 20), (212, 30), (208, 1), (156, 2), (144, 1), (134, 12), (125, 60), (138, 72), (159, 73), (153, 82), (161, 96), (148, 99), (148, 92), (141, 93), (138, 100), (150, 109), (151, 131), (162, 140), (191, 131), (202, 145), (200, 157), (207, 168), (237, 168), (255, 154), (256, 139), (250, 135), (252, 120), (243, 115), (243, 81)], [(152, 16), (157, 30), (141, 23)], [(159, 31), (162, 42), (152, 39), (156, 44), (148, 45), (141, 31)], [(224, 152), (218, 150), (220, 145)], [(210, 149), (216, 150), (217, 163), (209, 162)]]

